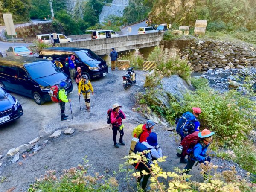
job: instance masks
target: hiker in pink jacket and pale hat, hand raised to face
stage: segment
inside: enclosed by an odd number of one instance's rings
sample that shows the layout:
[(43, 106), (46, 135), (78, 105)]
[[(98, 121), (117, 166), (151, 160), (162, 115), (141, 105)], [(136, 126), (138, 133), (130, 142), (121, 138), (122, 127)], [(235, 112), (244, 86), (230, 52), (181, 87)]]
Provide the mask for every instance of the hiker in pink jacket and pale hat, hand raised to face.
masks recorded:
[(120, 108), (122, 108), (122, 106), (120, 106), (118, 103), (113, 104), (112, 112), (110, 115), (112, 131), (113, 131), (113, 141), (114, 141), (114, 146), (116, 148), (119, 148), (119, 145), (117, 145), (116, 143), (117, 131), (119, 131), (120, 133), (119, 143), (121, 143), (121, 145), (125, 145), (125, 142), (123, 141), (124, 125), (122, 124), (122, 119), (125, 119), (125, 113), (123, 113)]

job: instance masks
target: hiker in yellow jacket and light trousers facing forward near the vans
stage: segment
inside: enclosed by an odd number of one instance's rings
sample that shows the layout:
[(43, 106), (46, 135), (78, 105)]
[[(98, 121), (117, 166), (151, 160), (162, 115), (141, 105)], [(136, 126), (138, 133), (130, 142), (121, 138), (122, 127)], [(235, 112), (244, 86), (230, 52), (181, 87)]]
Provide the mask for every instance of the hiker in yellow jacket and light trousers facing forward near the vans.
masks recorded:
[(81, 95), (81, 92), (84, 96), (84, 101), (85, 101), (87, 111), (90, 112), (90, 92), (92, 92), (93, 95), (94, 95), (94, 92), (93, 92), (93, 86), (90, 83), (90, 81), (88, 80), (87, 75), (82, 75), (81, 81), (79, 81), (79, 84), (78, 84), (78, 95), (79, 96)]

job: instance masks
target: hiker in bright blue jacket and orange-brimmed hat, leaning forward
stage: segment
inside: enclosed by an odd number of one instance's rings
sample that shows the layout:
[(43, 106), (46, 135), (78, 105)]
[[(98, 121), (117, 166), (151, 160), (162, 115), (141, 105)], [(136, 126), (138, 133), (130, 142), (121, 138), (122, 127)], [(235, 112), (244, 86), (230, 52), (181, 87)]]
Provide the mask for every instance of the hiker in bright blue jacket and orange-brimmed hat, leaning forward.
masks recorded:
[(192, 154), (188, 157), (188, 163), (184, 169), (186, 171), (184, 173), (188, 174), (189, 171), (195, 164), (195, 161), (199, 163), (204, 163), (205, 161), (210, 162), (211, 158), (206, 157), (206, 151), (210, 143), (212, 142), (212, 135), (214, 132), (209, 131), (208, 129), (204, 129), (202, 132), (198, 133), (198, 137), (200, 138), (199, 142), (192, 149)]

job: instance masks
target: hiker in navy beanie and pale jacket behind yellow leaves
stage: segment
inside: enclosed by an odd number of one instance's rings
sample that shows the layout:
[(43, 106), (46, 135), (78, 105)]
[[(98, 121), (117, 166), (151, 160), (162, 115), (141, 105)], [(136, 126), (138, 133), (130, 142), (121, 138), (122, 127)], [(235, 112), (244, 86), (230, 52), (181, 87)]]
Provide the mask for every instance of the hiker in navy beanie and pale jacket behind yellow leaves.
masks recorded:
[[(149, 134), (149, 136), (146, 139), (147, 139), (147, 141), (143, 141), (142, 144), (145, 145), (146, 148), (150, 149), (150, 152), (147, 154), (147, 159), (149, 162), (148, 167), (145, 166), (143, 163), (134, 164), (135, 169), (139, 170), (140, 175), (141, 175), (138, 178), (137, 182), (140, 183), (140, 181), (143, 178), (142, 183), (141, 183), (143, 191), (147, 191), (146, 187), (147, 187), (148, 179), (151, 175), (151, 172), (149, 169), (151, 168), (151, 164), (153, 163), (153, 160), (163, 157), (162, 149), (161, 149), (161, 147), (159, 147), (159, 145), (157, 143), (157, 134), (152, 132), (151, 134)], [(143, 175), (143, 173), (142, 173), (143, 170), (145, 170), (145, 172), (148, 174)]]

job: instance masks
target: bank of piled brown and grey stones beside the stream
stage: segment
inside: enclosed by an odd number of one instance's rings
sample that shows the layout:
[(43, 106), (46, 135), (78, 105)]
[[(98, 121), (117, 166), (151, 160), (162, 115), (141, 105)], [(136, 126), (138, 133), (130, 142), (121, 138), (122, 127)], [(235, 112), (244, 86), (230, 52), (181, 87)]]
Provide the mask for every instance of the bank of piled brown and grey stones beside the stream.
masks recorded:
[(256, 52), (253, 47), (241, 47), (230, 42), (194, 41), (183, 49), (182, 57), (187, 58), (197, 73), (215, 68), (256, 68)]

